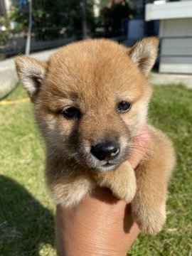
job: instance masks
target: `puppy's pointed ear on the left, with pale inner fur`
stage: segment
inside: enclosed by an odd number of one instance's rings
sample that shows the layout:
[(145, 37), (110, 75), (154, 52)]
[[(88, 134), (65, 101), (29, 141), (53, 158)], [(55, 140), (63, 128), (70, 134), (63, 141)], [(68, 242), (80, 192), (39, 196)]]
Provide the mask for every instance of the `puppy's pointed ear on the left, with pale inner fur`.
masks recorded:
[(41, 87), (46, 76), (47, 65), (26, 56), (18, 56), (15, 63), (18, 78), (27, 90), (29, 97), (32, 98)]

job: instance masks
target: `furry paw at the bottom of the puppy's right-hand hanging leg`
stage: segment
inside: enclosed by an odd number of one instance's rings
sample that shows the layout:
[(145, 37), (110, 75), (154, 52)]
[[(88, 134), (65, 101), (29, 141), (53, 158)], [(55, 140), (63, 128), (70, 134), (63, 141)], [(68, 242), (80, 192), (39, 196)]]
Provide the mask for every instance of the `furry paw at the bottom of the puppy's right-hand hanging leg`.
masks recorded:
[(156, 209), (140, 208), (137, 212), (135, 212), (134, 206), (132, 206), (132, 213), (134, 215), (134, 220), (139, 225), (142, 232), (149, 235), (159, 233), (166, 222), (165, 205), (157, 207)]

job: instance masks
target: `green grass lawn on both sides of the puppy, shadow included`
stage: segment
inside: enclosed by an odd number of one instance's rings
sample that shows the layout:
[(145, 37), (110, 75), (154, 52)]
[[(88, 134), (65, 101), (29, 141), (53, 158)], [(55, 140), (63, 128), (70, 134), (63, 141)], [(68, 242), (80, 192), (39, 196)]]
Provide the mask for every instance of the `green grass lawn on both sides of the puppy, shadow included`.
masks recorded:
[[(19, 87), (9, 100), (22, 99)], [(168, 218), (156, 236), (139, 235), (129, 255), (192, 255), (192, 90), (154, 88), (149, 119), (174, 141), (178, 164), (169, 186)], [(44, 184), (43, 142), (31, 103), (0, 105), (0, 255), (55, 255), (55, 208)], [(78, 256), (78, 255), (77, 255)]]

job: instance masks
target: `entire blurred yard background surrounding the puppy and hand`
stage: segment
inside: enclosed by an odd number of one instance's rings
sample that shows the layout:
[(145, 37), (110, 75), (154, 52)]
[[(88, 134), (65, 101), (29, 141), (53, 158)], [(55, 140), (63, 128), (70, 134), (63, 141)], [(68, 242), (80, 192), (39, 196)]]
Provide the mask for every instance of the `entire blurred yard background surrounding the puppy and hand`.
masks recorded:
[(48, 60), (61, 46), (86, 38), (133, 46), (146, 36), (159, 38), (148, 122), (172, 139), (177, 164), (163, 231), (139, 235), (129, 255), (192, 255), (192, 1), (0, 0), (1, 256), (56, 255), (43, 141), (15, 56)]

